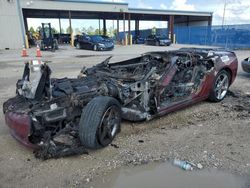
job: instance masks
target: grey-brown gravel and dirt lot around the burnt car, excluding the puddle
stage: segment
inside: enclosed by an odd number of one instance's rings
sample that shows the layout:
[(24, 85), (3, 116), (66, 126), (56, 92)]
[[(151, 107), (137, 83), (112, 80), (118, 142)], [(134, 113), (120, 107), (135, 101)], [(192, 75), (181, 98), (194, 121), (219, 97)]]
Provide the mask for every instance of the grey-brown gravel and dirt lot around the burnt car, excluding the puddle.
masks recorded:
[[(117, 46), (111, 52), (76, 50), (62, 46), (59, 51), (42, 52), (49, 61), (53, 77), (76, 77), (83, 65), (89, 67), (113, 55), (112, 61), (138, 54), (172, 50), (184, 45), (151, 47)], [(235, 51), (239, 62), (250, 51)], [(23, 62), (35, 59), (20, 51), (0, 51), (0, 105), (15, 94), (15, 83), (21, 77)], [(250, 74), (242, 72), (231, 87), (234, 94), (221, 103), (201, 102), (184, 110), (149, 122), (122, 122), (122, 131), (113, 144), (118, 147), (91, 151), (89, 155), (41, 161), (31, 150), (16, 142), (9, 134), (0, 114), (0, 187), (85, 187), (89, 181), (112, 170), (175, 157), (204, 168), (217, 168), (250, 179)]]

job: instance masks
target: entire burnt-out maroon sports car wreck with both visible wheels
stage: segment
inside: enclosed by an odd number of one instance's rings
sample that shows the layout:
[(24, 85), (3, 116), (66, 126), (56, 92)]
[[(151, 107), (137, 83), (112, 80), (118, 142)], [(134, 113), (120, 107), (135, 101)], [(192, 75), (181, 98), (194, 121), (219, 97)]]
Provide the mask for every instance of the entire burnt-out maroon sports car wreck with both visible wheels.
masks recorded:
[(51, 78), (46, 63), (31, 79), (26, 63), (17, 95), (3, 104), (11, 134), (43, 159), (109, 145), (121, 119), (150, 120), (196, 102), (221, 101), (237, 73), (233, 52), (150, 52), (83, 68), (78, 78)]

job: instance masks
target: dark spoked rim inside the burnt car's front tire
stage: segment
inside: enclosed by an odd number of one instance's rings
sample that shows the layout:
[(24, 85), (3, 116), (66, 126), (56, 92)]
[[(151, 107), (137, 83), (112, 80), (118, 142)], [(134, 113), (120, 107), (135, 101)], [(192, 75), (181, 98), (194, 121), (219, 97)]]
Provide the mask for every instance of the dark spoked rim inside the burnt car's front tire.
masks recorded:
[(97, 131), (97, 138), (102, 146), (106, 146), (114, 139), (120, 124), (119, 109), (116, 106), (109, 107), (102, 116)]

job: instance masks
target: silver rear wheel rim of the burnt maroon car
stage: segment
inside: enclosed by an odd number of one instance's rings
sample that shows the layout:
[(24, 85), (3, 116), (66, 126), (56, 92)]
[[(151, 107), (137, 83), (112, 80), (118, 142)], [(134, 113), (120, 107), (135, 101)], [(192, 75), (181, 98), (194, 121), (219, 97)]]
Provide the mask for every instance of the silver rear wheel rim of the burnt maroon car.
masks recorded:
[(215, 94), (216, 98), (221, 100), (223, 99), (229, 87), (229, 79), (226, 73), (222, 73), (218, 76), (215, 82)]

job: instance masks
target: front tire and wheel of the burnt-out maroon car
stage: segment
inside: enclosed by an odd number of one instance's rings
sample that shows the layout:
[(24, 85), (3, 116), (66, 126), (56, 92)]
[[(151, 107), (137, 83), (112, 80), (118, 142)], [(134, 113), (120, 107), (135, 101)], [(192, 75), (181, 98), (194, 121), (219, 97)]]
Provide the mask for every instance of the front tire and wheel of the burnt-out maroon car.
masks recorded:
[(89, 149), (109, 145), (120, 131), (120, 123), (121, 107), (115, 98), (99, 96), (92, 99), (83, 109), (79, 123), (81, 144)]

